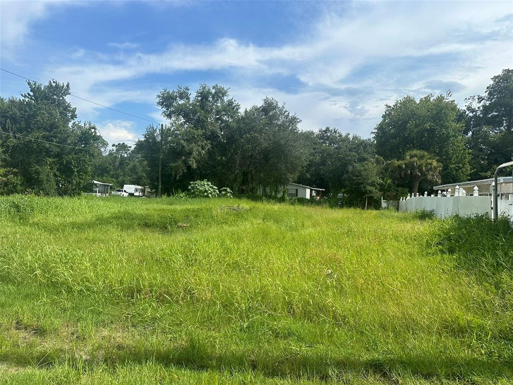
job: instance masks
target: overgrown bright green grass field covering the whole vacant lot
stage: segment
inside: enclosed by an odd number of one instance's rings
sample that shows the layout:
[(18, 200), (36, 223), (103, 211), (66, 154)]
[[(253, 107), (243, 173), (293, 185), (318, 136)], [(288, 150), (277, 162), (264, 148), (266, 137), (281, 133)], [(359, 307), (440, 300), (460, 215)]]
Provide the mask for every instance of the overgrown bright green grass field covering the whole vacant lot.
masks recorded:
[(24, 196), (0, 221), (2, 384), (513, 383), (506, 222)]

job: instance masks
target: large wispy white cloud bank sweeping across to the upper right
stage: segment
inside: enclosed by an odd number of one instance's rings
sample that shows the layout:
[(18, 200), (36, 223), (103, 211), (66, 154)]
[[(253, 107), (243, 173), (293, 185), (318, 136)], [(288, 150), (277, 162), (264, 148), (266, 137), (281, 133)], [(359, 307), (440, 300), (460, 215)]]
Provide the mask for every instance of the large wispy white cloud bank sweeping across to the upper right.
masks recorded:
[[(512, 18), (505, 3), (360, 3), (329, 12), (302, 35), (281, 46), (245, 44), (223, 38), (210, 45), (173, 45), (156, 54), (125, 52), (48, 68), (43, 79), (70, 82), (73, 93), (111, 106), (155, 103), (163, 85), (130, 88), (127, 81), (148, 74), (218, 71), (234, 79), (233, 95), (243, 105), (265, 95), (284, 101), (305, 129), (335, 125), (370, 133), (385, 103), (405, 94), (440, 92), (457, 84), (455, 97), (483, 93), (491, 76), (513, 65)], [(502, 18), (502, 21), (498, 21)], [(140, 48), (112, 43), (116, 48)], [(125, 46), (126, 45), (126, 46)], [(295, 76), (295, 93), (262, 86), (266, 76)], [(124, 83), (123, 88), (115, 82)], [(429, 88), (427, 88), (429, 86)], [(434, 87), (434, 88), (433, 88)], [(98, 108), (74, 101), (79, 112)], [(157, 119), (161, 121), (162, 118)]]

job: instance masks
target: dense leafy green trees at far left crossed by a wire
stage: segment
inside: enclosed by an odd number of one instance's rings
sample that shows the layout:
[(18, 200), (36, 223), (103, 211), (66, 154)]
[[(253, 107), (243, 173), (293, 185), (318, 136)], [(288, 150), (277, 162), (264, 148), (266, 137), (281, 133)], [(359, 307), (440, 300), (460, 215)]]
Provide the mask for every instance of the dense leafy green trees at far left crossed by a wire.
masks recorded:
[(93, 178), (106, 143), (94, 125), (74, 121), (75, 108), (66, 101), (69, 84), (28, 86), (21, 99), (0, 99), (0, 130), (21, 135), (0, 133), (2, 193), (78, 194)]

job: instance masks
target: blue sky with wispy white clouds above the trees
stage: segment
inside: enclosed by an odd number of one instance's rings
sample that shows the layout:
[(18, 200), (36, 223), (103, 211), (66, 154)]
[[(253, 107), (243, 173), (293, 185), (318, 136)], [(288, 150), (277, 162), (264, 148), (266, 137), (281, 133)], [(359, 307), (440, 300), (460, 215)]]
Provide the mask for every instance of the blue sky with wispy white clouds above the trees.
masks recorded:
[[(513, 2), (0, 1), (0, 67), (164, 122), (164, 88), (221, 84), (242, 108), (285, 103), (300, 128), (370, 137), (386, 104), (483, 94), (513, 68)], [(28, 90), (0, 71), (0, 95)], [(69, 97), (129, 144), (148, 121)]]

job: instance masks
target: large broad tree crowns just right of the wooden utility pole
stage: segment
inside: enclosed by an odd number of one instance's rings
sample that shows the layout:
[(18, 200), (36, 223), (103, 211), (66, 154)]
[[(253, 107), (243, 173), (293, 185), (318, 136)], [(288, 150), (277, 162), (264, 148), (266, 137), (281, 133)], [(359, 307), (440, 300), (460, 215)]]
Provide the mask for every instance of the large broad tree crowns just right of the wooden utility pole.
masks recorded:
[[(208, 179), (237, 194), (271, 190), (293, 180), (306, 162), (300, 120), (276, 100), (242, 113), (228, 89), (201, 85), (192, 97), (187, 87), (163, 90), (157, 96), (172, 122), (163, 138), (164, 175), (171, 186)], [(151, 129), (136, 148), (151, 147)], [(153, 164), (154, 170), (158, 165)]]

